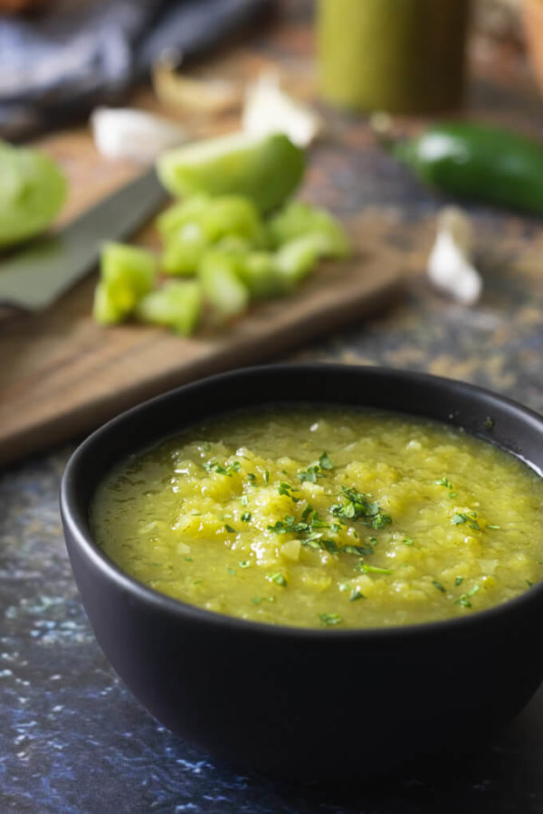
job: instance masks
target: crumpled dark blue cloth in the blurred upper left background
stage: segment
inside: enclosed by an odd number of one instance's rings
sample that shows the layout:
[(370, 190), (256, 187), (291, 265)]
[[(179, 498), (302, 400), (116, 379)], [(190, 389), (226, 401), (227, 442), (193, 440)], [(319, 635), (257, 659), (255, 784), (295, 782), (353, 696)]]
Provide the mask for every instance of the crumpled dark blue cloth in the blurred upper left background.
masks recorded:
[(63, 0), (0, 19), (0, 136), (119, 101), (160, 52), (205, 52), (273, 0)]

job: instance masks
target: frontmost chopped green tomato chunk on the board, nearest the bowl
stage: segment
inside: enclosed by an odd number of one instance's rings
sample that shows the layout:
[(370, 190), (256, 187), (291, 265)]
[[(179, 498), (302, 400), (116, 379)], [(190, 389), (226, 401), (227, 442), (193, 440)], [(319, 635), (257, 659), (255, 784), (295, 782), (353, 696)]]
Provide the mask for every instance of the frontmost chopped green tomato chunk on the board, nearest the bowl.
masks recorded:
[(199, 285), (173, 280), (144, 297), (137, 309), (138, 319), (142, 322), (169, 327), (183, 336), (194, 334), (201, 313)]

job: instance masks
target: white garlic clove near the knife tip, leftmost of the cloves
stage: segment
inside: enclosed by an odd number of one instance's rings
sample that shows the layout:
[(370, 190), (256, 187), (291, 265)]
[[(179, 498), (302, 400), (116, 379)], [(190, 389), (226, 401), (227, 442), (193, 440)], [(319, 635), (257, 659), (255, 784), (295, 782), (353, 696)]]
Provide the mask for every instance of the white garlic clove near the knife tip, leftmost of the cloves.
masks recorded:
[(187, 139), (176, 122), (132, 108), (97, 108), (90, 116), (90, 126), (102, 156), (142, 164), (152, 164), (163, 150)]

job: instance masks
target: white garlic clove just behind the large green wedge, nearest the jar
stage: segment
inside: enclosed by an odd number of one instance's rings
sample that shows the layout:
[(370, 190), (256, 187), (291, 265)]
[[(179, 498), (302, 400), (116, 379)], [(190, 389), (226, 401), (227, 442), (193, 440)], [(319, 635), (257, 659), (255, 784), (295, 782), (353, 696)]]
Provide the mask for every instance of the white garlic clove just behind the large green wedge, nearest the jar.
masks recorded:
[(308, 147), (322, 131), (323, 120), (281, 90), (277, 72), (268, 71), (246, 90), (242, 127), (253, 136), (284, 133), (298, 147)]

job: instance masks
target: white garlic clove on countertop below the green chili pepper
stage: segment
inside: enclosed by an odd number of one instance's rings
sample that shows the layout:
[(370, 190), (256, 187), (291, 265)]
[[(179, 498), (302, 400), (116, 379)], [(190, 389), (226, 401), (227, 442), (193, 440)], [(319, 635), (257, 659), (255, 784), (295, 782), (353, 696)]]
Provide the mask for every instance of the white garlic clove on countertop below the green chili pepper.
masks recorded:
[(481, 297), (481, 275), (471, 262), (472, 223), (462, 210), (447, 207), (438, 217), (438, 232), (428, 259), (428, 277), (462, 305)]

